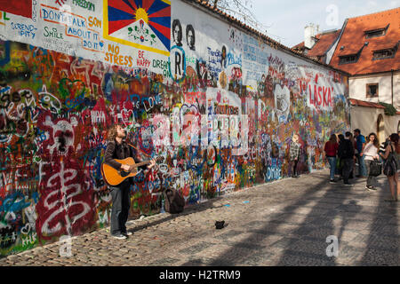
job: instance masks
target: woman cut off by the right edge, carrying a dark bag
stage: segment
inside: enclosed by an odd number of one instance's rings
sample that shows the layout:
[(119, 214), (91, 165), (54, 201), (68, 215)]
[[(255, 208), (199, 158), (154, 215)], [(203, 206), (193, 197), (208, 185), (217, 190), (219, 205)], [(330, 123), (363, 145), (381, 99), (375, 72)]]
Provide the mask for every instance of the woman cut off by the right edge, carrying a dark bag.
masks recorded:
[(386, 146), (385, 154), (380, 154), (383, 160), (383, 173), (388, 177), (388, 184), (390, 187), (391, 199), (385, 201), (396, 202), (398, 201), (398, 194), (400, 193), (400, 183), (398, 181), (398, 156), (400, 155), (400, 146), (398, 143), (398, 134), (392, 133), (389, 136), (390, 143)]

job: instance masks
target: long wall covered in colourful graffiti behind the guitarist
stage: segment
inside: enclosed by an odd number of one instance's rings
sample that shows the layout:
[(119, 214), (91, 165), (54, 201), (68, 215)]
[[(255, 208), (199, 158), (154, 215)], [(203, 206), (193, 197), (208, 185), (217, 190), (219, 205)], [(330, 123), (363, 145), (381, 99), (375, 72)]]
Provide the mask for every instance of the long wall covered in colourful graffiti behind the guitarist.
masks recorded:
[[(123, 122), (141, 159), (131, 217), (324, 167), (348, 80), (185, 1), (0, 1), (0, 255), (107, 226), (100, 165)], [(196, 15), (196, 17), (194, 17)]]

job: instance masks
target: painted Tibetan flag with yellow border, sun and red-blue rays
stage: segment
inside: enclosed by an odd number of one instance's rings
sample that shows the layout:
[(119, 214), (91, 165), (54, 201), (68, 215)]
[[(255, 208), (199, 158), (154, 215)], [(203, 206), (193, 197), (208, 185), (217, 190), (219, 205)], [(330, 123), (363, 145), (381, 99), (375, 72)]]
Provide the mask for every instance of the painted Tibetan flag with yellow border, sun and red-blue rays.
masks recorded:
[(171, 4), (162, 0), (106, 0), (104, 37), (169, 55)]

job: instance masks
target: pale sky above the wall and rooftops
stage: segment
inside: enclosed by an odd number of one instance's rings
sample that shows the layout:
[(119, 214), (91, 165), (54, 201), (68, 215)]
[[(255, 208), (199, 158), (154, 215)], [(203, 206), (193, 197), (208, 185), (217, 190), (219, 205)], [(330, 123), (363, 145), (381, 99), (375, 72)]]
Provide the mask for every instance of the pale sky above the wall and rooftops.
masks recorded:
[(292, 47), (304, 41), (304, 27), (338, 29), (348, 18), (400, 7), (400, 0), (252, 0), (252, 12), (267, 36)]

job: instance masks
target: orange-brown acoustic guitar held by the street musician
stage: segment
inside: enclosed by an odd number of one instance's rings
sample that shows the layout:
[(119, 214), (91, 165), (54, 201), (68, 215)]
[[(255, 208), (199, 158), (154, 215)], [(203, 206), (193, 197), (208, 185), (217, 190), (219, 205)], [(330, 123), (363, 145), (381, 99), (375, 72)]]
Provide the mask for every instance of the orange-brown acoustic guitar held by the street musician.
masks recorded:
[[(160, 162), (162, 159), (163, 157), (157, 157), (156, 162)], [(139, 173), (139, 167), (151, 163), (151, 161), (135, 163), (132, 157), (125, 158), (123, 160), (116, 159), (116, 162), (122, 163), (124, 165), (129, 165), (131, 166), (132, 170), (116, 170), (107, 163), (103, 162), (101, 164), (101, 176), (103, 176), (104, 181), (111, 186), (121, 184), (128, 177), (135, 177)]]

